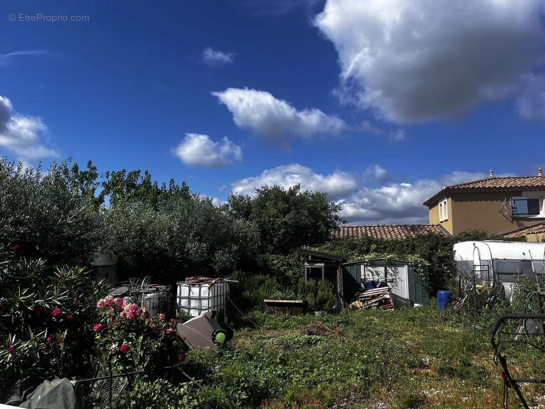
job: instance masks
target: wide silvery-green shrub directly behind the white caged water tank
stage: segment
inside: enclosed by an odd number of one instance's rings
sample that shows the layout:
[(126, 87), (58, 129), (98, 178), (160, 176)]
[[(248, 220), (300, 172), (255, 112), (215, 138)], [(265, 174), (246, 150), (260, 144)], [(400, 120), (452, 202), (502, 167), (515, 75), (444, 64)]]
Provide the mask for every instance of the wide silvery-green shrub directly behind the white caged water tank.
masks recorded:
[[(118, 201), (105, 214), (105, 246), (127, 274), (172, 282), (221, 273), (253, 252), (251, 226), (197, 195), (158, 204)], [(193, 273), (191, 273), (193, 272)]]

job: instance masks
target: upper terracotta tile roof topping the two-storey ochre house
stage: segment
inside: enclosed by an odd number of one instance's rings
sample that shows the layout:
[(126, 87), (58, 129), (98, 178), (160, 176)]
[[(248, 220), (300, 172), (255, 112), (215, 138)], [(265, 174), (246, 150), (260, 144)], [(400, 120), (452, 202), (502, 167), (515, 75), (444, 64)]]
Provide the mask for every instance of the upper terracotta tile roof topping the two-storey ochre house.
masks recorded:
[(445, 186), (428, 200), (422, 202), (428, 206), (441, 196), (449, 193), (504, 192), (513, 190), (545, 190), (543, 176), (489, 177), (478, 181)]

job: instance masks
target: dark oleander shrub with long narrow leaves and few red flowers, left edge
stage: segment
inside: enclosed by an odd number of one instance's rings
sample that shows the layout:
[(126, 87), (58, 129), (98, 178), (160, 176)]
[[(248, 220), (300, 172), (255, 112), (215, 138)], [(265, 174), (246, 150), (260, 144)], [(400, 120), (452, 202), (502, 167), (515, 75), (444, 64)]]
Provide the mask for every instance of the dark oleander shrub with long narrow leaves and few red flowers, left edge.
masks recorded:
[(93, 304), (106, 286), (82, 267), (52, 267), (0, 245), (0, 384), (24, 375), (87, 374)]

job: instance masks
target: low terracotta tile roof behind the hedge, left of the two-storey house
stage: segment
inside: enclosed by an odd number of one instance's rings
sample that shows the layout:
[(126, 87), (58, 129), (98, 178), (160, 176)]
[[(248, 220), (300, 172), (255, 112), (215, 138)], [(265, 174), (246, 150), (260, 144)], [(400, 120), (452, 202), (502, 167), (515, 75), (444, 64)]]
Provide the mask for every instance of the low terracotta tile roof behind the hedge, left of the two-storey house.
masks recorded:
[(337, 226), (333, 232), (334, 238), (362, 238), (370, 236), (386, 240), (401, 240), (406, 237), (414, 237), (419, 234), (437, 233), (449, 236), (443, 227), (437, 224), (383, 224)]

